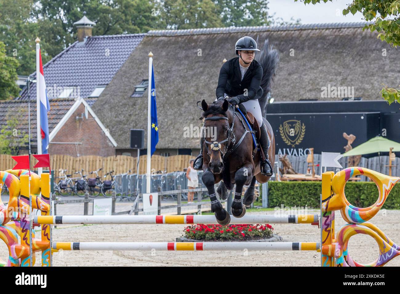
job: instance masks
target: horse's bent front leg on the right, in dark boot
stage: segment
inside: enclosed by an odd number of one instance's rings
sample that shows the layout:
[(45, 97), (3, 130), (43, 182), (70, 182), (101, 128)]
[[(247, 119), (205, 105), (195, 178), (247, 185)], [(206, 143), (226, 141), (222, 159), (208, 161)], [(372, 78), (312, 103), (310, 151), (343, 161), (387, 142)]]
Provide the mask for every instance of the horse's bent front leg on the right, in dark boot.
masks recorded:
[(246, 206), (242, 203), (243, 186), (253, 178), (254, 165), (247, 163), (235, 173), (235, 197), (232, 201), (232, 214), (241, 218), (246, 213)]

